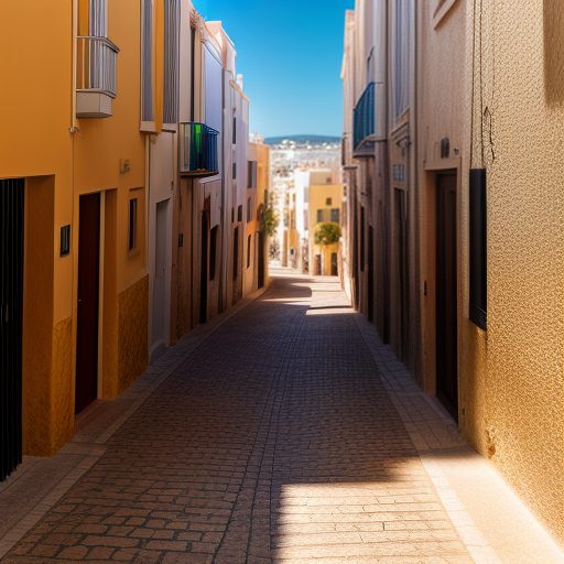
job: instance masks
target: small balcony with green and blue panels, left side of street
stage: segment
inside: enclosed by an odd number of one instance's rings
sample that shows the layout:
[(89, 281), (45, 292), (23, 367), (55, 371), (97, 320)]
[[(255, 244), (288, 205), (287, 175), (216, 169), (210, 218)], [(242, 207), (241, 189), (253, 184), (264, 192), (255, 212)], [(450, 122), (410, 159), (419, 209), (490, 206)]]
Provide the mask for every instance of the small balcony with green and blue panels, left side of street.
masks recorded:
[(180, 172), (182, 176), (204, 178), (219, 174), (217, 138), (219, 133), (204, 123), (180, 124)]

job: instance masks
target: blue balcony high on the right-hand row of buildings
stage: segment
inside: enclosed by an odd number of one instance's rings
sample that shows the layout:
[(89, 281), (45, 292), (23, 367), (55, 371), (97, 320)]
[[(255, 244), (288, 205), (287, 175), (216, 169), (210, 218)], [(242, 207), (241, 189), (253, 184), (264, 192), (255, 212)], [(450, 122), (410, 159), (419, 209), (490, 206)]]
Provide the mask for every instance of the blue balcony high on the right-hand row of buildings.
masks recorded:
[[(376, 141), (386, 139), (382, 90), (383, 84), (369, 83), (355, 107), (352, 156), (356, 159), (373, 156)], [(377, 104), (377, 98), (380, 104)]]

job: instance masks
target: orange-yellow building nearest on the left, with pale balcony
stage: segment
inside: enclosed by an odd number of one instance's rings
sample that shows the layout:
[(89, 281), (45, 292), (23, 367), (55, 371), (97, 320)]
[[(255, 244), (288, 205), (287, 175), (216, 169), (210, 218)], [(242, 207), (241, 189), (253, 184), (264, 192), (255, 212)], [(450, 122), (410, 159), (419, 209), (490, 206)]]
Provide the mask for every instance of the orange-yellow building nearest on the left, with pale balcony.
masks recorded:
[(1, 214), (22, 273), (8, 281), (2, 264), (17, 464), (20, 446), (54, 453), (78, 413), (147, 366), (142, 12), (135, 0), (8, 0), (0, 20), (0, 75), (14, 85), (0, 94)]

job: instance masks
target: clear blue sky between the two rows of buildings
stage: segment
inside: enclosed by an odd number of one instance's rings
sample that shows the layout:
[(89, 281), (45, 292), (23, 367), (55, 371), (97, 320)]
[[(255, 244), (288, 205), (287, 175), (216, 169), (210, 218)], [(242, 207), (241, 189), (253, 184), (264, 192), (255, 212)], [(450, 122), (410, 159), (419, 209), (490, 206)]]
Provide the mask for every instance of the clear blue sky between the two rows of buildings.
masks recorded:
[(354, 0), (195, 0), (221, 20), (251, 99), (251, 131), (340, 135), (345, 10)]

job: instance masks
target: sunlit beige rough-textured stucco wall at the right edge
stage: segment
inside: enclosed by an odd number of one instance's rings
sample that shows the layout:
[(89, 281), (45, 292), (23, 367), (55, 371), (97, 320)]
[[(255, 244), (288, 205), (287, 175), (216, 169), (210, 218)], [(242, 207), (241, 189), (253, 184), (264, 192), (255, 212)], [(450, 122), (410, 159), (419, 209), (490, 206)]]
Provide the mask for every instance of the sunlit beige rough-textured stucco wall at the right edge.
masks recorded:
[(484, 26), (488, 358), (476, 442), (564, 541), (564, 7), (495, 2)]

